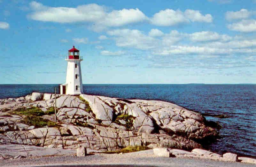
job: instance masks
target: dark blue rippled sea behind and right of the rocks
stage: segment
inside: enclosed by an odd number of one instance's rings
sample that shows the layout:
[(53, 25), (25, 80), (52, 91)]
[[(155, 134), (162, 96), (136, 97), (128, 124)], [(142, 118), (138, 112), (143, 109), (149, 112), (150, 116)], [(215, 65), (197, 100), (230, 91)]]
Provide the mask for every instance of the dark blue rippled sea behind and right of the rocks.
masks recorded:
[[(0, 99), (20, 97), (33, 91), (54, 93), (56, 84), (0, 85)], [(256, 85), (205, 84), (91, 84), (83, 85), (85, 94), (126, 99), (162, 100), (199, 113), (224, 114), (227, 118), (206, 116), (218, 122), (221, 138), (210, 145), (214, 152), (235, 152), (256, 157)]]

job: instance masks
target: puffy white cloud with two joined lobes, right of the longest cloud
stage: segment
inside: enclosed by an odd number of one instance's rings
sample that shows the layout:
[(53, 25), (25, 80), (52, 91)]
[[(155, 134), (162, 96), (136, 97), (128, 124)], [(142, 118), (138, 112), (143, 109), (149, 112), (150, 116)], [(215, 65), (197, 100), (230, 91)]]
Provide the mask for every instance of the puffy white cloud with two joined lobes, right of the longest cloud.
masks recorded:
[(158, 26), (173, 26), (178, 24), (186, 24), (189, 22), (206, 22), (211, 23), (213, 17), (210, 14), (205, 16), (199, 10), (187, 9), (185, 12), (181, 10), (160, 10), (150, 19), (151, 23)]

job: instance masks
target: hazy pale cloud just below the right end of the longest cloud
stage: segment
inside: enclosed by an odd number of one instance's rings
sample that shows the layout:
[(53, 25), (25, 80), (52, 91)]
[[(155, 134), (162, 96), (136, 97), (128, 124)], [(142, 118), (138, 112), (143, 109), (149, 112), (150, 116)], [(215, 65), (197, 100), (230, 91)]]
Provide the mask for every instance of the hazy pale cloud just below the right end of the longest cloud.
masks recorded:
[(116, 29), (107, 31), (108, 35), (114, 36), (117, 46), (133, 47), (147, 50), (159, 45), (159, 40), (145, 35), (139, 30)]

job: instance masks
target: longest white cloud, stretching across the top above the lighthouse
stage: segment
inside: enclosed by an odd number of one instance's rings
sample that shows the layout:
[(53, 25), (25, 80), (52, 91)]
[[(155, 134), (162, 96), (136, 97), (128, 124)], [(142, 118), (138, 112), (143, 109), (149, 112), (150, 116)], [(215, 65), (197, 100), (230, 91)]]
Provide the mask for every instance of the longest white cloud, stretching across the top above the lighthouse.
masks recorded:
[(42, 3), (32, 1), (29, 3), (33, 10), (28, 18), (45, 22), (93, 23), (93, 29), (104, 29), (105, 27), (117, 27), (131, 23), (144, 21), (147, 17), (139, 9), (122, 9), (107, 12), (104, 6), (95, 3), (79, 5), (76, 8), (49, 7)]

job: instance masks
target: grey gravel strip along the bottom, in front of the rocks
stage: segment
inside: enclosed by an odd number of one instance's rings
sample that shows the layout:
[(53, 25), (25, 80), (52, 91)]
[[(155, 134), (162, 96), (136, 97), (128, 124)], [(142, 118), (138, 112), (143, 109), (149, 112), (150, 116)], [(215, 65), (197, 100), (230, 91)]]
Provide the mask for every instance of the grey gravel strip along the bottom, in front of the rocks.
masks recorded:
[[(104, 165), (105, 164), (105, 165)], [(229, 163), (197, 158), (164, 158), (154, 157), (146, 154), (94, 154), (86, 157), (76, 156), (54, 156), (54, 157), (39, 157), (39, 158), (21, 158), (0, 160), (0, 166), (15, 167), (15, 166), (63, 166), (69, 167), (95, 167), (104, 165), (109, 166), (172, 166), (172, 167), (255, 167), (253, 164), (244, 163)]]

